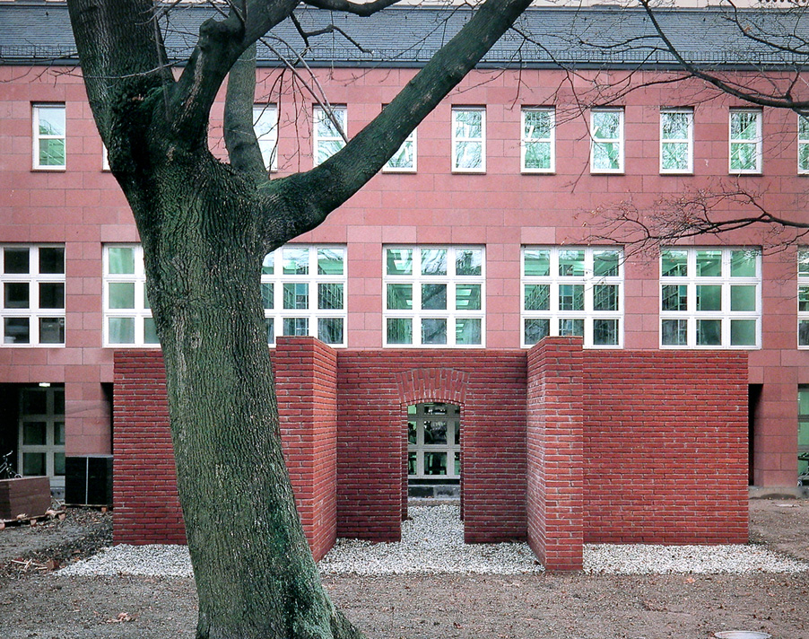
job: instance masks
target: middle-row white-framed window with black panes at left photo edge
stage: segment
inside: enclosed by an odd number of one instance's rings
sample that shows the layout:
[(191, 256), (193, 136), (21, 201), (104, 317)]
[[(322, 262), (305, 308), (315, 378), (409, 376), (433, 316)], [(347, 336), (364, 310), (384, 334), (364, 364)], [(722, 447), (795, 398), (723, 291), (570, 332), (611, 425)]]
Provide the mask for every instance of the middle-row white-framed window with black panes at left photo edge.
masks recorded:
[(65, 345), (65, 245), (0, 245), (3, 346)]

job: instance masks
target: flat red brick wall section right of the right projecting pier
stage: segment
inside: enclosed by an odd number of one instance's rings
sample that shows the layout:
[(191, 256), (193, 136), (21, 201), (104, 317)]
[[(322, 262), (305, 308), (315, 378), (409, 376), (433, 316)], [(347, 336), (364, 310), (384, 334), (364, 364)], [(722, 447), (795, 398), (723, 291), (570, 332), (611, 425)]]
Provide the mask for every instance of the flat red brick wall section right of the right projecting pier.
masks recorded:
[(747, 354), (586, 351), (587, 542), (747, 542)]

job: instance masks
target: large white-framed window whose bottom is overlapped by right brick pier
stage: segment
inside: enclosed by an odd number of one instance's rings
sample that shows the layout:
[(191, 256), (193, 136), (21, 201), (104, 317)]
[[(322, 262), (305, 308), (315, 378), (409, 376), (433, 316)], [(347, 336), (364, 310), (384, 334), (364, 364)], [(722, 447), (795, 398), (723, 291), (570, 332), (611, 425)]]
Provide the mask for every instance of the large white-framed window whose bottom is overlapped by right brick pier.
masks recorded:
[(622, 249), (530, 246), (521, 261), (523, 346), (547, 336), (623, 346)]

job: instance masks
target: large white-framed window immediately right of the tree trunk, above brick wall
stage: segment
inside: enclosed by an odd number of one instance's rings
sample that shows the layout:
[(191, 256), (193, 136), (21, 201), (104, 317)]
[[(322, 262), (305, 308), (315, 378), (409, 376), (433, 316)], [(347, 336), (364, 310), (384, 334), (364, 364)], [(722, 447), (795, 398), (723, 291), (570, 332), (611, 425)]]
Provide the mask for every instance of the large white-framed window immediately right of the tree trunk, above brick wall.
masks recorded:
[(261, 267), (267, 343), (279, 335), (310, 335), (345, 346), (348, 281), (344, 246), (287, 244)]

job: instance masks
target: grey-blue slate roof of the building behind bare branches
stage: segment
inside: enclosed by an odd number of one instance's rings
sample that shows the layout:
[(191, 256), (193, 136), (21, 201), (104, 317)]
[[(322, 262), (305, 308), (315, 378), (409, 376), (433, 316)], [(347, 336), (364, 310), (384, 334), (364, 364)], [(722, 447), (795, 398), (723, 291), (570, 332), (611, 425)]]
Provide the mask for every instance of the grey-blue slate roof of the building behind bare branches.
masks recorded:
[[(164, 18), (170, 57), (188, 56), (200, 22), (215, 16), (203, 5), (178, 6)], [(392, 7), (370, 18), (300, 8), (307, 31), (334, 25), (303, 51), (287, 20), (259, 47), (259, 64), (279, 65), (279, 55), (310, 66), (422, 66), (468, 21), (468, 7)], [(783, 67), (809, 61), (809, 10), (659, 9), (657, 20), (683, 57), (702, 66)], [(532, 8), (484, 58), (483, 66), (673, 66), (648, 15), (615, 6)], [(778, 46), (762, 44), (759, 39)], [(355, 44), (356, 43), (356, 44)], [(0, 4), (0, 64), (76, 62), (65, 4), (17, 0)], [(299, 62), (300, 64), (300, 62)]]

